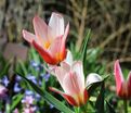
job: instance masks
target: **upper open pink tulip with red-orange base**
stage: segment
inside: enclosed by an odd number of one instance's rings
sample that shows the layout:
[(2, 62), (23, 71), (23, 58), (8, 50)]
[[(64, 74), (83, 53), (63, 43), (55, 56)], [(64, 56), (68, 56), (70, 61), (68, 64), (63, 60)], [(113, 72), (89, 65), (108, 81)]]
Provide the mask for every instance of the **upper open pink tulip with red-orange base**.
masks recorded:
[(66, 58), (69, 23), (65, 28), (63, 16), (53, 12), (49, 25), (39, 16), (34, 17), (32, 24), (35, 35), (23, 29), (24, 39), (35, 47), (47, 63), (58, 64)]

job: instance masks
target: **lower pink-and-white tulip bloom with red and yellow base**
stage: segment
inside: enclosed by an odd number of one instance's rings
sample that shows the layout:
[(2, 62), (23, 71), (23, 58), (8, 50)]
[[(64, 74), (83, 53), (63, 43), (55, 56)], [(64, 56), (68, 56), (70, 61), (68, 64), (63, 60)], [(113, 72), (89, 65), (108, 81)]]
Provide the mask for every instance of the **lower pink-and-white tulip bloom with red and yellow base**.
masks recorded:
[[(86, 88), (87, 85), (84, 84), (84, 75), (81, 61), (76, 61), (71, 65), (66, 62), (62, 62), (61, 66), (55, 68), (55, 76), (57, 77), (65, 92), (62, 92), (52, 87), (50, 87), (50, 90), (63, 96), (71, 105), (80, 106), (87, 103), (89, 93)], [(92, 74), (92, 76), (96, 76), (96, 74)]]

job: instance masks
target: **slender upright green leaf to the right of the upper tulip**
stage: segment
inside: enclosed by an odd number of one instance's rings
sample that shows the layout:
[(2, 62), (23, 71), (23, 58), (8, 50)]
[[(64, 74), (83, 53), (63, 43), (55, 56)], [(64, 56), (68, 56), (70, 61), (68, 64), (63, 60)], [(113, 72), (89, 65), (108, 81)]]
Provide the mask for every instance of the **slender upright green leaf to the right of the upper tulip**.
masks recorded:
[(88, 29), (86, 38), (83, 40), (83, 45), (81, 47), (80, 53), (81, 53), (81, 60), (83, 62), (83, 65), (86, 63), (86, 55), (87, 55), (87, 49), (88, 49), (88, 41), (91, 37), (91, 29)]

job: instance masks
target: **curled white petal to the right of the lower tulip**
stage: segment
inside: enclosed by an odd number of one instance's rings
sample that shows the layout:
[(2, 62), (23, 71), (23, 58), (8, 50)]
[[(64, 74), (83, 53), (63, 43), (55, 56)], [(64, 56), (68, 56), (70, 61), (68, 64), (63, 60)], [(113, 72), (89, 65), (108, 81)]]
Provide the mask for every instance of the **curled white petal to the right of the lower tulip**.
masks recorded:
[(99, 74), (91, 73), (87, 76), (86, 86), (89, 87), (90, 85), (100, 81), (102, 81), (102, 77)]

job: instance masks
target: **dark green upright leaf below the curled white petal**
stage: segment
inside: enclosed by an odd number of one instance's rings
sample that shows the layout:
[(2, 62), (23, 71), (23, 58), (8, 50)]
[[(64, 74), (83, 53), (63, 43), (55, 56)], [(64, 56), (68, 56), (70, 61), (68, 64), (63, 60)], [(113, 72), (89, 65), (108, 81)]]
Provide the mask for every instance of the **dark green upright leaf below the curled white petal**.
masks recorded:
[(100, 95), (99, 95), (99, 97), (96, 99), (96, 103), (95, 103), (96, 113), (105, 113), (104, 112), (104, 92), (105, 92), (105, 87), (104, 87), (104, 81), (103, 81), (102, 86), (101, 86)]

